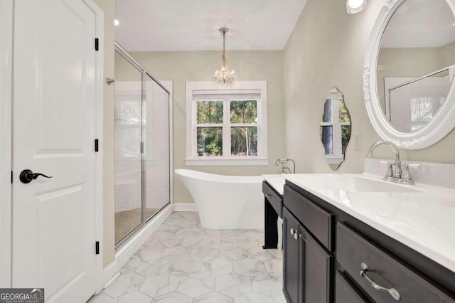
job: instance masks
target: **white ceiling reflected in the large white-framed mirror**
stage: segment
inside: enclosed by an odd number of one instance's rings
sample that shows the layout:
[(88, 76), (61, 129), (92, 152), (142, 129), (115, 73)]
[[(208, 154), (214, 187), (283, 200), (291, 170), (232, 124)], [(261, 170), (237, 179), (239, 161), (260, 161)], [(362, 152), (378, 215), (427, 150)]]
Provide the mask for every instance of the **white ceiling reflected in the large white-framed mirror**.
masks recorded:
[(405, 1), (387, 24), (382, 48), (431, 48), (455, 41), (455, 18), (445, 0)]

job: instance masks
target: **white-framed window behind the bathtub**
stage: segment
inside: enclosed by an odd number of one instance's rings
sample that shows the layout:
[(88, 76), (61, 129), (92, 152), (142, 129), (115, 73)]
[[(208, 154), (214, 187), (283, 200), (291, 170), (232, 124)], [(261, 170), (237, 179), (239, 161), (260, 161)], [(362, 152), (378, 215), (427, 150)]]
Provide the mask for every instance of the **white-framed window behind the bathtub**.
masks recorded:
[(186, 83), (186, 165), (267, 165), (267, 82)]

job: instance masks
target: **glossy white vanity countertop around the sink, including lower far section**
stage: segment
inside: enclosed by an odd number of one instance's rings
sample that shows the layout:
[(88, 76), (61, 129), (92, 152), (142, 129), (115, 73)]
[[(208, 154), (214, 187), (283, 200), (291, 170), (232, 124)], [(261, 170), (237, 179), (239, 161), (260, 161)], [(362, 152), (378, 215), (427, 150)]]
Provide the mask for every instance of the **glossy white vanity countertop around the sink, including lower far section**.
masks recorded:
[(372, 174), (264, 175), (264, 179), (282, 193), (284, 181), (280, 178), (285, 178), (455, 272), (453, 188), (417, 184), (403, 185), (415, 192), (348, 191), (324, 184), (328, 176), (360, 176), (385, 182)]

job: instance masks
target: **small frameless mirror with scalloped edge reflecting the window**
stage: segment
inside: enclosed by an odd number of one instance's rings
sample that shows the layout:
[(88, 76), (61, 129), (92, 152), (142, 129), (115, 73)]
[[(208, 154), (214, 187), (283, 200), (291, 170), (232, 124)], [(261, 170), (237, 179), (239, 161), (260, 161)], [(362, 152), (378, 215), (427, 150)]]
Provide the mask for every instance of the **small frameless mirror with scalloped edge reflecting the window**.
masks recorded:
[(344, 104), (343, 94), (336, 87), (328, 91), (324, 102), (319, 135), (328, 165), (333, 170), (338, 169), (344, 161), (350, 138), (350, 115)]

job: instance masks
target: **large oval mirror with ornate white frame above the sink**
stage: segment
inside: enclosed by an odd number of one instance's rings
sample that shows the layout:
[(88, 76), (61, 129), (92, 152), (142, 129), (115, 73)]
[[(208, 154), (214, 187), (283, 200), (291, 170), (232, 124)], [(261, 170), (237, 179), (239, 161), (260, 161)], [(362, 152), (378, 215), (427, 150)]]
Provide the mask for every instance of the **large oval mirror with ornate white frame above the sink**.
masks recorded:
[(368, 116), (382, 139), (422, 149), (455, 127), (455, 2), (389, 0), (365, 58)]

